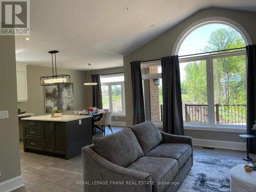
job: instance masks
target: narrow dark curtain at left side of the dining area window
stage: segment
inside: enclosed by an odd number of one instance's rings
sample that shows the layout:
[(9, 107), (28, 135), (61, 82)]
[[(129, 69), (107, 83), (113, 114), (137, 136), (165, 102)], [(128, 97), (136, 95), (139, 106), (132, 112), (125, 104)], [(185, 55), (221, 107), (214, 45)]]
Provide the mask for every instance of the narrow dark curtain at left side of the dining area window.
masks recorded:
[(97, 82), (97, 86), (93, 86), (93, 106), (102, 109), (102, 95), (99, 75), (92, 75), (93, 82)]

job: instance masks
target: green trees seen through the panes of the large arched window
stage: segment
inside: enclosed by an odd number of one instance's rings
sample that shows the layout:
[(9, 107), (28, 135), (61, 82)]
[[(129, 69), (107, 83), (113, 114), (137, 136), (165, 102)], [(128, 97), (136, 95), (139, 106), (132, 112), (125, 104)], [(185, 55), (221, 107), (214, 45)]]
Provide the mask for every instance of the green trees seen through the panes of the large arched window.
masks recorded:
[[(245, 41), (242, 36), (230, 27), (212, 32), (208, 45), (203, 51), (219, 51), (244, 46)], [(215, 103), (246, 103), (245, 56), (214, 59), (213, 65)], [(185, 67), (185, 72), (186, 78), (181, 82), (183, 101), (207, 103), (206, 62), (189, 62)]]

